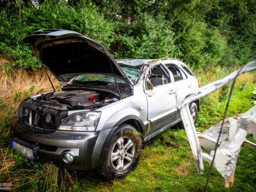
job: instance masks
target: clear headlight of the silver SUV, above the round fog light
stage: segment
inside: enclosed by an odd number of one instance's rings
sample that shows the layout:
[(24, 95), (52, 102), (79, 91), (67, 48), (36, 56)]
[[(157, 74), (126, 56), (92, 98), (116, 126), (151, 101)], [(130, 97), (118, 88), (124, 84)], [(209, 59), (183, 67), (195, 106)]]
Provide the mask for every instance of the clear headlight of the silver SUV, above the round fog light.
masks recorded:
[(60, 125), (59, 130), (95, 131), (101, 111), (85, 111), (68, 116)]

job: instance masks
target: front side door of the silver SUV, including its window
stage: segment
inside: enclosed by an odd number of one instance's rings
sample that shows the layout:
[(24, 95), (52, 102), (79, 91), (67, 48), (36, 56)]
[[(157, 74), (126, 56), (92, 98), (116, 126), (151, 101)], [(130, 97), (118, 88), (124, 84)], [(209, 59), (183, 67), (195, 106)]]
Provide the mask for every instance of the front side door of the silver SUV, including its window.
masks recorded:
[(145, 93), (148, 102), (148, 121), (152, 134), (169, 127), (177, 120), (176, 86), (171, 82), (170, 73), (162, 64), (150, 67), (146, 76)]

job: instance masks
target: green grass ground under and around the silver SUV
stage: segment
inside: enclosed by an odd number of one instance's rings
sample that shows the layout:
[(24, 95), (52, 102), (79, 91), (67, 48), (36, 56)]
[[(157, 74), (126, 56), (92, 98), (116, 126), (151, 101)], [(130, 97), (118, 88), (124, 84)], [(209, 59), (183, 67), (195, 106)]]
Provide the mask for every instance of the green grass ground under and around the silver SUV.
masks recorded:
[[(236, 86), (228, 116), (243, 113), (252, 107), (251, 92), (254, 86), (256, 83), (244, 84), (243, 82)], [(223, 89), (222, 95), (218, 97), (202, 99), (197, 130), (203, 131), (221, 121), (228, 92), (229, 86)], [(0, 106), (2, 113), (0, 126), (3, 135), (10, 127), (11, 118), (8, 116), (14, 114), (14, 111), (3, 102)], [(255, 142), (252, 135), (247, 138)], [(102, 181), (95, 171), (69, 171), (72, 178), (70, 180), (65, 170), (49, 164), (34, 163), (16, 154), (10, 149), (9, 137), (0, 139), (2, 139), (1, 161), (3, 157), (10, 164), (13, 159), (15, 161), (8, 172), (0, 173), (0, 182), (11, 181), (14, 191), (201, 191), (209, 172), (209, 164), (204, 162), (205, 173), (201, 175), (197, 173), (186, 133), (177, 126), (147, 142), (137, 168), (124, 179), (112, 182)], [(225, 188), (224, 185), (223, 178), (214, 169), (210, 178), (209, 191), (255, 191), (255, 148), (243, 145), (237, 162), (235, 184), (230, 188)]]

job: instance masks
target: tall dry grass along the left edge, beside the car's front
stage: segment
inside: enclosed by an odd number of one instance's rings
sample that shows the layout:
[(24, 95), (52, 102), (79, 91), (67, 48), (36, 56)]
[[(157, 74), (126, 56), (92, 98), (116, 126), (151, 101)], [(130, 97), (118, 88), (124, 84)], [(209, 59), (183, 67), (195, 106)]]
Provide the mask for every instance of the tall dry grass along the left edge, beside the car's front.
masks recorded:
[(11, 119), (19, 103), (31, 95), (52, 91), (47, 74), (54, 87), (58, 89), (61, 85), (49, 71), (46, 74), (44, 69), (11, 68), (6, 63), (7, 60), (0, 59), (0, 182), (12, 182), (14, 189), (28, 185), (32, 186), (31, 190), (42, 188), (44, 191), (58, 191), (67, 186), (76, 188), (67, 170), (30, 162), (9, 148)]

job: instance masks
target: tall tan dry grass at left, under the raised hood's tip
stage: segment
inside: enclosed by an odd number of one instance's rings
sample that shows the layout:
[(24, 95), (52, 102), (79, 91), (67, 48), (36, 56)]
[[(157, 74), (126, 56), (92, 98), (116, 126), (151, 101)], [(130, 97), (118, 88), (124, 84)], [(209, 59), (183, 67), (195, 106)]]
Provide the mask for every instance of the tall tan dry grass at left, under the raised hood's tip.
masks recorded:
[[(22, 68), (4, 69), (3, 63), (0, 63), (0, 65), (0, 95), (1, 99), (9, 107), (17, 108), (26, 96), (30, 96), (29, 94), (52, 90), (44, 69), (26, 71)], [(54, 86), (58, 86), (60, 83), (57, 79), (49, 71), (47, 73)]]

